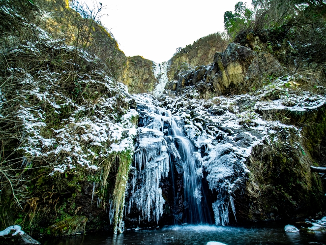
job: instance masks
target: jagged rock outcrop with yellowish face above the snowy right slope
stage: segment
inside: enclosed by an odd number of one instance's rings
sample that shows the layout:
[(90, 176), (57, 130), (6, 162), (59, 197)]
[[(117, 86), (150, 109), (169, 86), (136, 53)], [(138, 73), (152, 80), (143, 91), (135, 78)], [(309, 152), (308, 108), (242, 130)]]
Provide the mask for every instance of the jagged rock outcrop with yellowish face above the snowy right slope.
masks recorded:
[(184, 70), (166, 89), (181, 92), (195, 85), (201, 92), (221, 94), (247, 92), (253, 81), (280, 76), (284, 68), (269, 53), (257, 53), (237, 43), (230, 43), (223, 53), (215, 53), (214, 62)]

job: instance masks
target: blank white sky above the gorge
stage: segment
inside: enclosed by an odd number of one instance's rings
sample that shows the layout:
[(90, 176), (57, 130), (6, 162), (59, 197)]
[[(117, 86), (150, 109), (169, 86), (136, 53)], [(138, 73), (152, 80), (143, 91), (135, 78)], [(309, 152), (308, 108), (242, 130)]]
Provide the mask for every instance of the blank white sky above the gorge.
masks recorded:
[(94, 1), (105, 6), (101, 22), (113, 33), (126, 56), (140, 55), (163, 62), (172, 58), (178, 47), (224, 31), (224, 12), (234, 11), (239, 0)]

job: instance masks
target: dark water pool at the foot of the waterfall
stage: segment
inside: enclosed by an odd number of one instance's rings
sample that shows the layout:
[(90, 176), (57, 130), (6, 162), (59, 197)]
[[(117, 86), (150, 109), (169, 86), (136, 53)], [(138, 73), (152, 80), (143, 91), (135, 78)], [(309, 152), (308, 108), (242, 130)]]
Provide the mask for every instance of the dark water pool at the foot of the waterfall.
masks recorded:
[[(290, 223), (300, 228), (300, 224)], [(326, 233), (286, 233), (284, 225), (260, 224), (247, 227), (212, 225), (169, 226), (127, 230), (124, 234), (87, 234), (64, 239), (39, 239), (42, 245), (206, 245), (216, 241), (227, 245), (326, 245)]]

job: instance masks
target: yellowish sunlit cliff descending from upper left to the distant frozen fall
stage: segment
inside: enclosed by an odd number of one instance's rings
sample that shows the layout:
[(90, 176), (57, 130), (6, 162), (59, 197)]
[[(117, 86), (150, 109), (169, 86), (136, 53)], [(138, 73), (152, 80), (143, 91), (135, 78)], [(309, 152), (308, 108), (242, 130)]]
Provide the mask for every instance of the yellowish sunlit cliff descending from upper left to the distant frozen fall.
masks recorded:
[[(87, 11), (78, 13), (68, 1), (36, 1), (41, 10), (40, 26), (54, 39), (67, 45), (80, 46), (83, 51), (95, 54), (107, 65), (107, 72), (128, 87), (130, 93), (152, 92), (157, 83), (153, 62), (141, 56), (126, 57), (119, 49), (113, 34), (100, 26)], [(95, 14), (95, 13), (93, 13)], [(89, 27), (92, 31), (89, 31)]]

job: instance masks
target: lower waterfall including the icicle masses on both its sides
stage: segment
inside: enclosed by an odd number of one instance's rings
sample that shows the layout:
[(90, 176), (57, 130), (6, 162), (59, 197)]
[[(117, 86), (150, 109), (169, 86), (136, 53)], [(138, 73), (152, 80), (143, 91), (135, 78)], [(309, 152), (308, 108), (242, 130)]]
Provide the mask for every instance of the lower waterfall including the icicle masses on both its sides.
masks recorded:
[(227, 225), (229, 214), (236, 216), (234, 186), (245, 174), (232, 145), (210, 145), (203, 156), (180, 127), (180, 117), (153, 105), (150, 95), (134, 98), (140, 118), (127, 222), (211, 224), (214, 218), (216, 225)]

